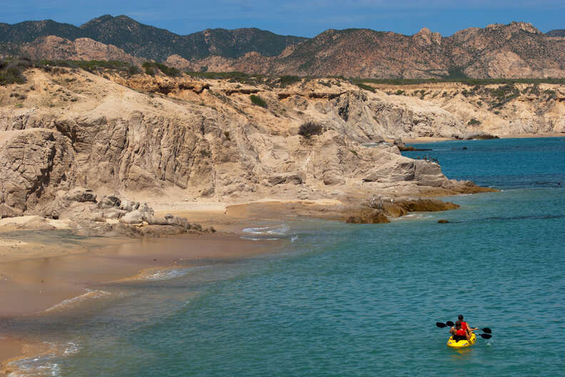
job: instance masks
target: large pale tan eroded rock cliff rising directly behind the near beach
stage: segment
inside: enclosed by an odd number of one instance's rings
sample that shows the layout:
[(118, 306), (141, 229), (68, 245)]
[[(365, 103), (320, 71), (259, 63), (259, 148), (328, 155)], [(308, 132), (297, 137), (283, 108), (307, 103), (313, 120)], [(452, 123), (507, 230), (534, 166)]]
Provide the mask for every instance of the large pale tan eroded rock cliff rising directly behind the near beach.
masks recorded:
[[(76, 69), (26, 76), (26, 84), (0, 87), (0, 203), (26, 213), (75, 186), (223, 201), (476, 190), (396, 146), (365, 146), (383, 137), (462, 134), (460, 118), (347, 81), (278, 88)], [(298, 135), (307, 120), (322, 133)]]

